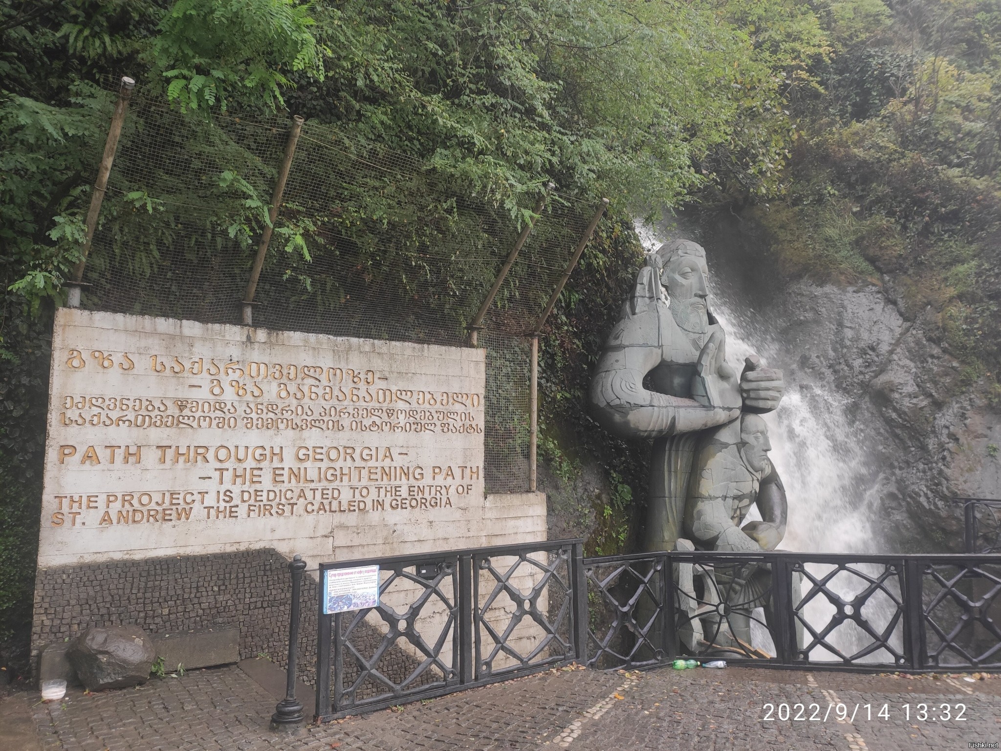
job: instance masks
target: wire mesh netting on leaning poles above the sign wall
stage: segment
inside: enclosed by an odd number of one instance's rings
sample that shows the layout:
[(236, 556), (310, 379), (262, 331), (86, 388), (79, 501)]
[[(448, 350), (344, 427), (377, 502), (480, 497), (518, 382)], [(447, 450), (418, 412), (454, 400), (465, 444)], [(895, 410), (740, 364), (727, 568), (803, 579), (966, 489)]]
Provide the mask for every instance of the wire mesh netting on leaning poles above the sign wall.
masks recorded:
[[(84, 275), (82, 306), (238, 323), (292, 121), (211, 119), (134, 95)], [(537, 196), (526, 196), (535, 203)], [(462, 345), (522, 230), (517, 207), (434, 160), (337, 128), (301, 129), (253, 322)], [(483, 321), (488, 492), (528, 485), (526, 335), (595, 206), (551, 191)]]

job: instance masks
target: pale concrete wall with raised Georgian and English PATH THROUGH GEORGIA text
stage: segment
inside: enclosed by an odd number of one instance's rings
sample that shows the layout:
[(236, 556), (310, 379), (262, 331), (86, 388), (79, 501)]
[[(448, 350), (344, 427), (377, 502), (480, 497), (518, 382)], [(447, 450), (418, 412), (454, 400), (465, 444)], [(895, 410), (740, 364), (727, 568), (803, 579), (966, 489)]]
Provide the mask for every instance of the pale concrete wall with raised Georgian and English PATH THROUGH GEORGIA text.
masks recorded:
[(483, 388), (482, 349), (60, 308), (39, 566), (545, 539), (484, 496)]

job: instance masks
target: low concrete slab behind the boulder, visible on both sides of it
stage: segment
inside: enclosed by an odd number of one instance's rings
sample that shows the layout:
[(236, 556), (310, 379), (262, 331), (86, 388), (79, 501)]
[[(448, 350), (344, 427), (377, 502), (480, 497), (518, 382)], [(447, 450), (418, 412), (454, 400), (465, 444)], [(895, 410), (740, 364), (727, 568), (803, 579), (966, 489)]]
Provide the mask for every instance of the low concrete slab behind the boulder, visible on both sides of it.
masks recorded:
[[(234, 626), (152, 636), (156, 656), (163, 658), (163, 669), (168, 673), (177, 670), (178, 665), (183, 665), (184, 670), (194, 670), (233, 665), (240, 660), (240, 630)], [(39, 682), (61, 678), (67, 686), (80, 685), (66, 657), (70, 644), (56, 642), (42, 650), (38, 663)]]

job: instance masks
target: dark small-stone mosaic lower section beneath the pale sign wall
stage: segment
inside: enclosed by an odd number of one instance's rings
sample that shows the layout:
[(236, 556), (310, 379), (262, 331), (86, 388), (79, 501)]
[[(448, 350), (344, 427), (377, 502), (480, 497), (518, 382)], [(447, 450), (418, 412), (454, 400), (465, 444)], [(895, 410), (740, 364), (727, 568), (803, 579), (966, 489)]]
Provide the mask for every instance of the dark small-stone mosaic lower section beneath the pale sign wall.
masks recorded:
[[(303, 577), (298, 644), (299, 676), (315, 683), (316, 579)], [(290, 578), (288, 561), (273, 550), (183, 558), (151, 558), (39, 569), (35, 579), (32, 657), (53, 642), (73, 639), (90, 626), (135, 625), (150, 633), (175, 633), (214, 626), (240, 630), (240, 659), (266, 654), (284, 668), (287, 658)], [(366, 658), (381, 634), (367, 624), (352, 643)], [(417, 661), (398, 648), (386, 651), (379, 671), (400, 681)], [(344, 683), (358, 675), (345, 656)], [(417, 681), (433, 680), (428, 673)], [(380, 693), (365, 686), (359, 698)]]

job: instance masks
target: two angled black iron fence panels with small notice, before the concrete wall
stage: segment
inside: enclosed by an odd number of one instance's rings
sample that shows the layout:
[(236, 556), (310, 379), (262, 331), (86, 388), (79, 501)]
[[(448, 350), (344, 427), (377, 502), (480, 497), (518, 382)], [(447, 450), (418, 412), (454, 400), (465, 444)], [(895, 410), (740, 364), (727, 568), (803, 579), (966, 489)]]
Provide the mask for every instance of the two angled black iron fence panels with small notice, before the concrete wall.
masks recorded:
[(377, 565), (374, 607), (323, 613), (316, 710), (326, 720), (583, 658), (582, 541), (321, 564)]

